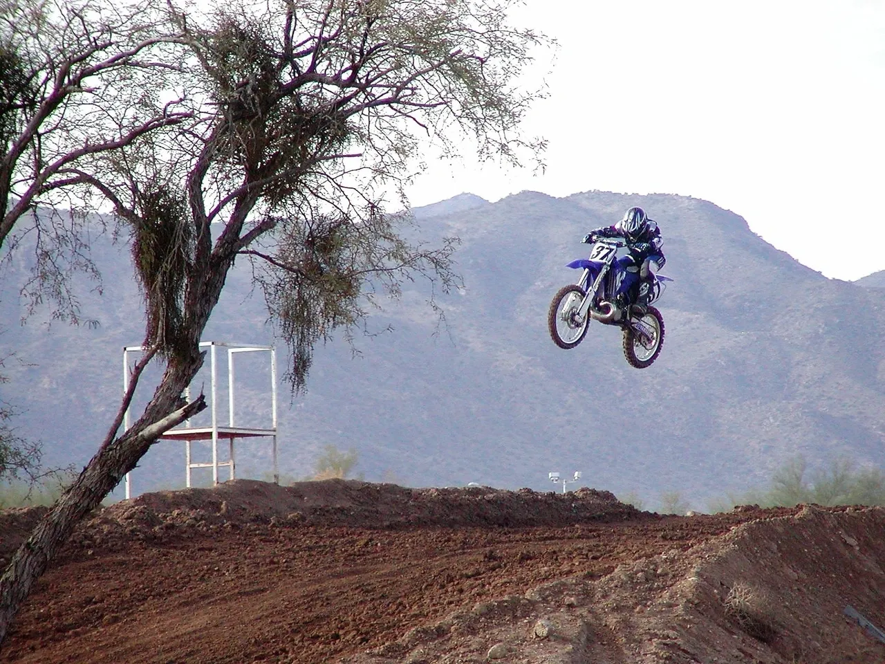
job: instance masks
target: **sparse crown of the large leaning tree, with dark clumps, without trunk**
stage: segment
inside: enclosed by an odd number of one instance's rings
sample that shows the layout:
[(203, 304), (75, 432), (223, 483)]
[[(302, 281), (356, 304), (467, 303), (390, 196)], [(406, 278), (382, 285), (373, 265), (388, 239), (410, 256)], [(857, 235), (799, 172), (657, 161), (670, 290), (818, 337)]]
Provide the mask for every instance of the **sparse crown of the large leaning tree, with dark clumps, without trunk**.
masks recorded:
[(199, 63), (183, 87), (211, 101), (195, 108), (199, 129), (173, 141), (193, 146), (173, 170), (197, 227), (225, 226), (212, 259), (220, 265), (235, 251), (253, 261), (289, 345), (294, 390), (317, 342), (337, 329), (350, 339), (403, 282), (427, 280), (432, 308), (436, 292), (459, 283), (456, 241), (428, 249), (407, 239), (407, 218), (385, 212), (389, 197), (405, 206), (428, 135), (446, 157), (456, 155), (452, 131), (484, 157), (515, 164), (518, 153), (540, 153), (542, 142), (519, 132), (538, 95), (515, 83), (546, 40), (507, 25), (512, 4), (234, 0), (199, 17), (169, 5)]

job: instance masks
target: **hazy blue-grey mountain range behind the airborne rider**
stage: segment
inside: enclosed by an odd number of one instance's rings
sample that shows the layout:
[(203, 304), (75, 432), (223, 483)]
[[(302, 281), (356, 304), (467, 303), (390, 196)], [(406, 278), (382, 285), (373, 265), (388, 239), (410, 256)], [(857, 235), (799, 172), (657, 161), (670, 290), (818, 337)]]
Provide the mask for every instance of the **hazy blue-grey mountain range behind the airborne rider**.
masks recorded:
[[(546, 329), (550, 298), (577, 276), (565, 264), (587, 251), (581, 236), (630, 205), (658, 220), (663, 273), (675, 280), (659, 301), (664, 350), (644, 370), (627, 366), (618, 328), (594, 323), (571, 351)], [(358, 452), (357, 471), (372, 481), (538, 490), (555, 488), (549, 471), (581, 470), (596, 489), (644, 498), (678, 490), (704, 508), (765, 484), (797, 453), (812, 465), (882, 458), (885, 349), (876, 331), (885, 292), (800, 265), (734, 212), (689, 197), (589, 191), (496, 203), (462, 195), (415, 216), (424, 237), (460, 237), (464, 289), (434, 294), (441, 321), (427, 305), (429, 286), (407, 283), (370, 320), (377, 334), (317, 349), (307, 394), (289, 399), (281, 388), (284, 474), (309, 475), (334, 444)], [(21, 432), (45, 441), (53, 462), (81, 464), (95, 451), (122, 390), (121, 346), (141, 338), (125, 249), (97, 237), (94, 255), (104, 295), (86, 292), (83, 307), (98, 328), (47, 327), (42, 312), (0, 337), (37, 365), (7, 363), (4, 398), (27, 410)], [(0, 320), (19, 319), (13, 284), (26, 269), (26, 252), (6, 267)], [(273, 341), (248, 264), (228, 280), (204, 338)], [(208, 390), (205, 376), (200, 385)], [(268, 410), (255, 385), (237, 400), (255, 417)], [(260, 440), (241, 445), (238, 467), (266, 475), (267, 452)], [(158, 444), (135, 471), (136, 492), (180, 486), (182, 467), (181, 444)]]

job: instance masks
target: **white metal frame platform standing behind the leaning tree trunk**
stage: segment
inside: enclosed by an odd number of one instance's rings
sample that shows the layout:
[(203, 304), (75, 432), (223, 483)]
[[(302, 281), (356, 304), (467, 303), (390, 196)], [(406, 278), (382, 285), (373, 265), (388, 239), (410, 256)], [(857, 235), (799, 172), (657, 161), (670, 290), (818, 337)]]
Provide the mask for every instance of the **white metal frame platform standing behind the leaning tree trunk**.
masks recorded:
[[(190, 487), (190, 471), (193, 468), (212, 468), (212, 485), (219, 483), (219, 467), (229, 469), (229, 479), (235, 479), (235, 455), (234, 442), (237, 438), (250, 438), (256, 436), (270, 436), (273, 441), (273, 482), (280, 483), (280, 473), (277, 467), (277, 381), (276, 381), (276, 349), (273, 346), (258, 346), (250, 344), (227, 344), (226, 342), (204, 341), (200, 342), (200, 348), (209, 349), (210, 371), (212, 373), (210, 389), (210, 408), (212, 425), (209, 427), (191, 427), (190, 421), (185, 421), (183, 427), (169, 429), (160, 436), (160, 440), (183, 440), (185, 443), (185, 485)], [(216, 349), (227, 348), (227, 426), (219, 426), (218, 413), (218, 366), (216, 361)], [(129, 389), (129, 353), (143, 352), (144, 346), (125, 346), (123, 348), (123, 394)], [(271, 427), (261, 429), (255, 427), (237, 427), (234, 421), (234, 357), (241, 352), (266, 351), (270, 352), (271, 358)], [(185, 398), (190, 400), (190, 388), (185, 390)], [(129, 429), (129, 411), (123, 416), (123, 427)], [(227, 461), (219, 461), (219, 438), (227, 438), (228, 457)], [(212, 440), (212, 461), (209, 463), (195, 463), (191, 459), (190, 444), (195, 440)], [(126, 474), (126, 497), (132, 497), (132, 483), (130, 473)]]

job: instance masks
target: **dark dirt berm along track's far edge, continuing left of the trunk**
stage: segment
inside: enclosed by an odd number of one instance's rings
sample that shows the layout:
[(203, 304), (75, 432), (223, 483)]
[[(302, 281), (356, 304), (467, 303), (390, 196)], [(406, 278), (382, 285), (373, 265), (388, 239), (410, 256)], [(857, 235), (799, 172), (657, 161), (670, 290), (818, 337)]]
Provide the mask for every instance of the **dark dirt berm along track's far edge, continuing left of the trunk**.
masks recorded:
[[(45, 507), (0, 511), (0, 566), (27, 539)], [(558, 527), (589, 521), (624, 521), (641, 513), (609, 491), (568, 494), (491, 487), (409, 489), (353, 480), (291, 486), (236, 480), (213, 489), (145, 493), (96, 510), (75, 531), (65, 555), (119, 550), (133, 540), (154, 540), (177, 527), (203, 531), (246, 524), (350, 526), (396, 529), (443, 526)]]

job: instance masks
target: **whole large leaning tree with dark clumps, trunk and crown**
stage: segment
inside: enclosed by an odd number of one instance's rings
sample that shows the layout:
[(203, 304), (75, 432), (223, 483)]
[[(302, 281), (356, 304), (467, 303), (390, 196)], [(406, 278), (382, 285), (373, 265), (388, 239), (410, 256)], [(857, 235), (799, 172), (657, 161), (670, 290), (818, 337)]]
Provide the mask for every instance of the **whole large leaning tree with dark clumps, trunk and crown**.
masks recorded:
[[(157, 437), (204, 407), (181, 400), (200, 336), (238, 258), (252, 261), (304, 386), (314, 344), (364, 320), (404, 280), (457, 282), (453, 241), (409, 239), (404, 200), (419, 139), (518, 161), (530, 95), (514, 86), (542, 38), (506, 23), (509, 0), (270, 0), (202, 15), (169, 5), (189, 120), (70, 166), (131, 233), (145, 344), (165, 371), (142, 416), (104, 443), (0, 579), (0, 639), (35, 579)], [(175, 56), (178, 57), (177, 55)], [(187, 95), (183, 93), (187, 92)]]

